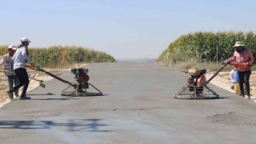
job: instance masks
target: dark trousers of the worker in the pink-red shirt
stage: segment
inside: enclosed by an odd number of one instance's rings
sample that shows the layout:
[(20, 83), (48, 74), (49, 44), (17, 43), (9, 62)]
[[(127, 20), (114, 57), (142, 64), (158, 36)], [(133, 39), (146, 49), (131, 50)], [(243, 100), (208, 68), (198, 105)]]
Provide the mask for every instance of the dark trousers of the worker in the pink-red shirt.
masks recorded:
[(243, 84), (246, 86), (246, 94), (250, 96), (250, 74), (251, 71), (238, 71), (238, 77), (239, 77), (239, 85), (241, 94), (245, 94), (245, 89), (243, 88)]

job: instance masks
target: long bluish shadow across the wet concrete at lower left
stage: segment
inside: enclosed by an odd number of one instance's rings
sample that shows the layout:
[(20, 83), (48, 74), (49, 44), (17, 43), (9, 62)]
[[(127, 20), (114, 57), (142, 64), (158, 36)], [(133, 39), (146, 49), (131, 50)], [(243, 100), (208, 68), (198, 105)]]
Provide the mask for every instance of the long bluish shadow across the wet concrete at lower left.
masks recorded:
[(67, 122), (54, 121), (0, 121), (0, 129), (54, 129), (58, 126), (66, 127), (68, 131), (87, 131), (87, 132), (111, 132), (101, 130), (105, 124), (100, 124), (102, 119), (70, 119)]

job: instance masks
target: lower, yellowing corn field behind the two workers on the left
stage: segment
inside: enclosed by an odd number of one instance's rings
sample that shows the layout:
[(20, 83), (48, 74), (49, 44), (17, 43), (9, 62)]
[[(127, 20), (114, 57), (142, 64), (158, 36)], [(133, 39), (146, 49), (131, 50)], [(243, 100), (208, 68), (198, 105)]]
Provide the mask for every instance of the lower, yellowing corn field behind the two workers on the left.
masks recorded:
[[(0, 46), (0, 55), (7, 53), (7, 47)], [(82, 46), (29, 47), (29, 56), (36, 65), (43, 67), (62, 67), (81, 62), (116, 62), (110, 54)]]

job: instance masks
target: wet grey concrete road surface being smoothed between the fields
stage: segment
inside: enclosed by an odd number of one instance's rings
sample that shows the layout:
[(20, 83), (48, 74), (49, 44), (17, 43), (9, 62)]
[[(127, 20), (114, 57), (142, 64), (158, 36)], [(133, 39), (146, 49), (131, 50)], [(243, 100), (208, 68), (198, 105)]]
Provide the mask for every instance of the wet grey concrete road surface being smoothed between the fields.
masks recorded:
[[(103, 96), (63, 97), (54, 79), (32, 100), (0, 109), (1, 143), (255, 143), (256, 104), (209, 85), (214, 100), (173, 94), (187, 74), (153, 63), (90, 64), (90, 83)], [(70, 71), (60, 75), (73, 81)]]

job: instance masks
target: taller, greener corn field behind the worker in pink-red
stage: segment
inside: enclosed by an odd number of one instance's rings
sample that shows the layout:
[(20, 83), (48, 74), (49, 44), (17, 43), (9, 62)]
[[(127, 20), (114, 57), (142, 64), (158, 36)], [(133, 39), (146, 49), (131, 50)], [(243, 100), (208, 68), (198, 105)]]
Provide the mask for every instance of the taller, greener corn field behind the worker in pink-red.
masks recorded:
[(256, 56), (254, 32), (195, 32), (180, 36), (160, 54), (158, 62), (174, 64), (191, 59), (198, 62), (217, 62), (234, 54), (234, 43), (241, 41)]

